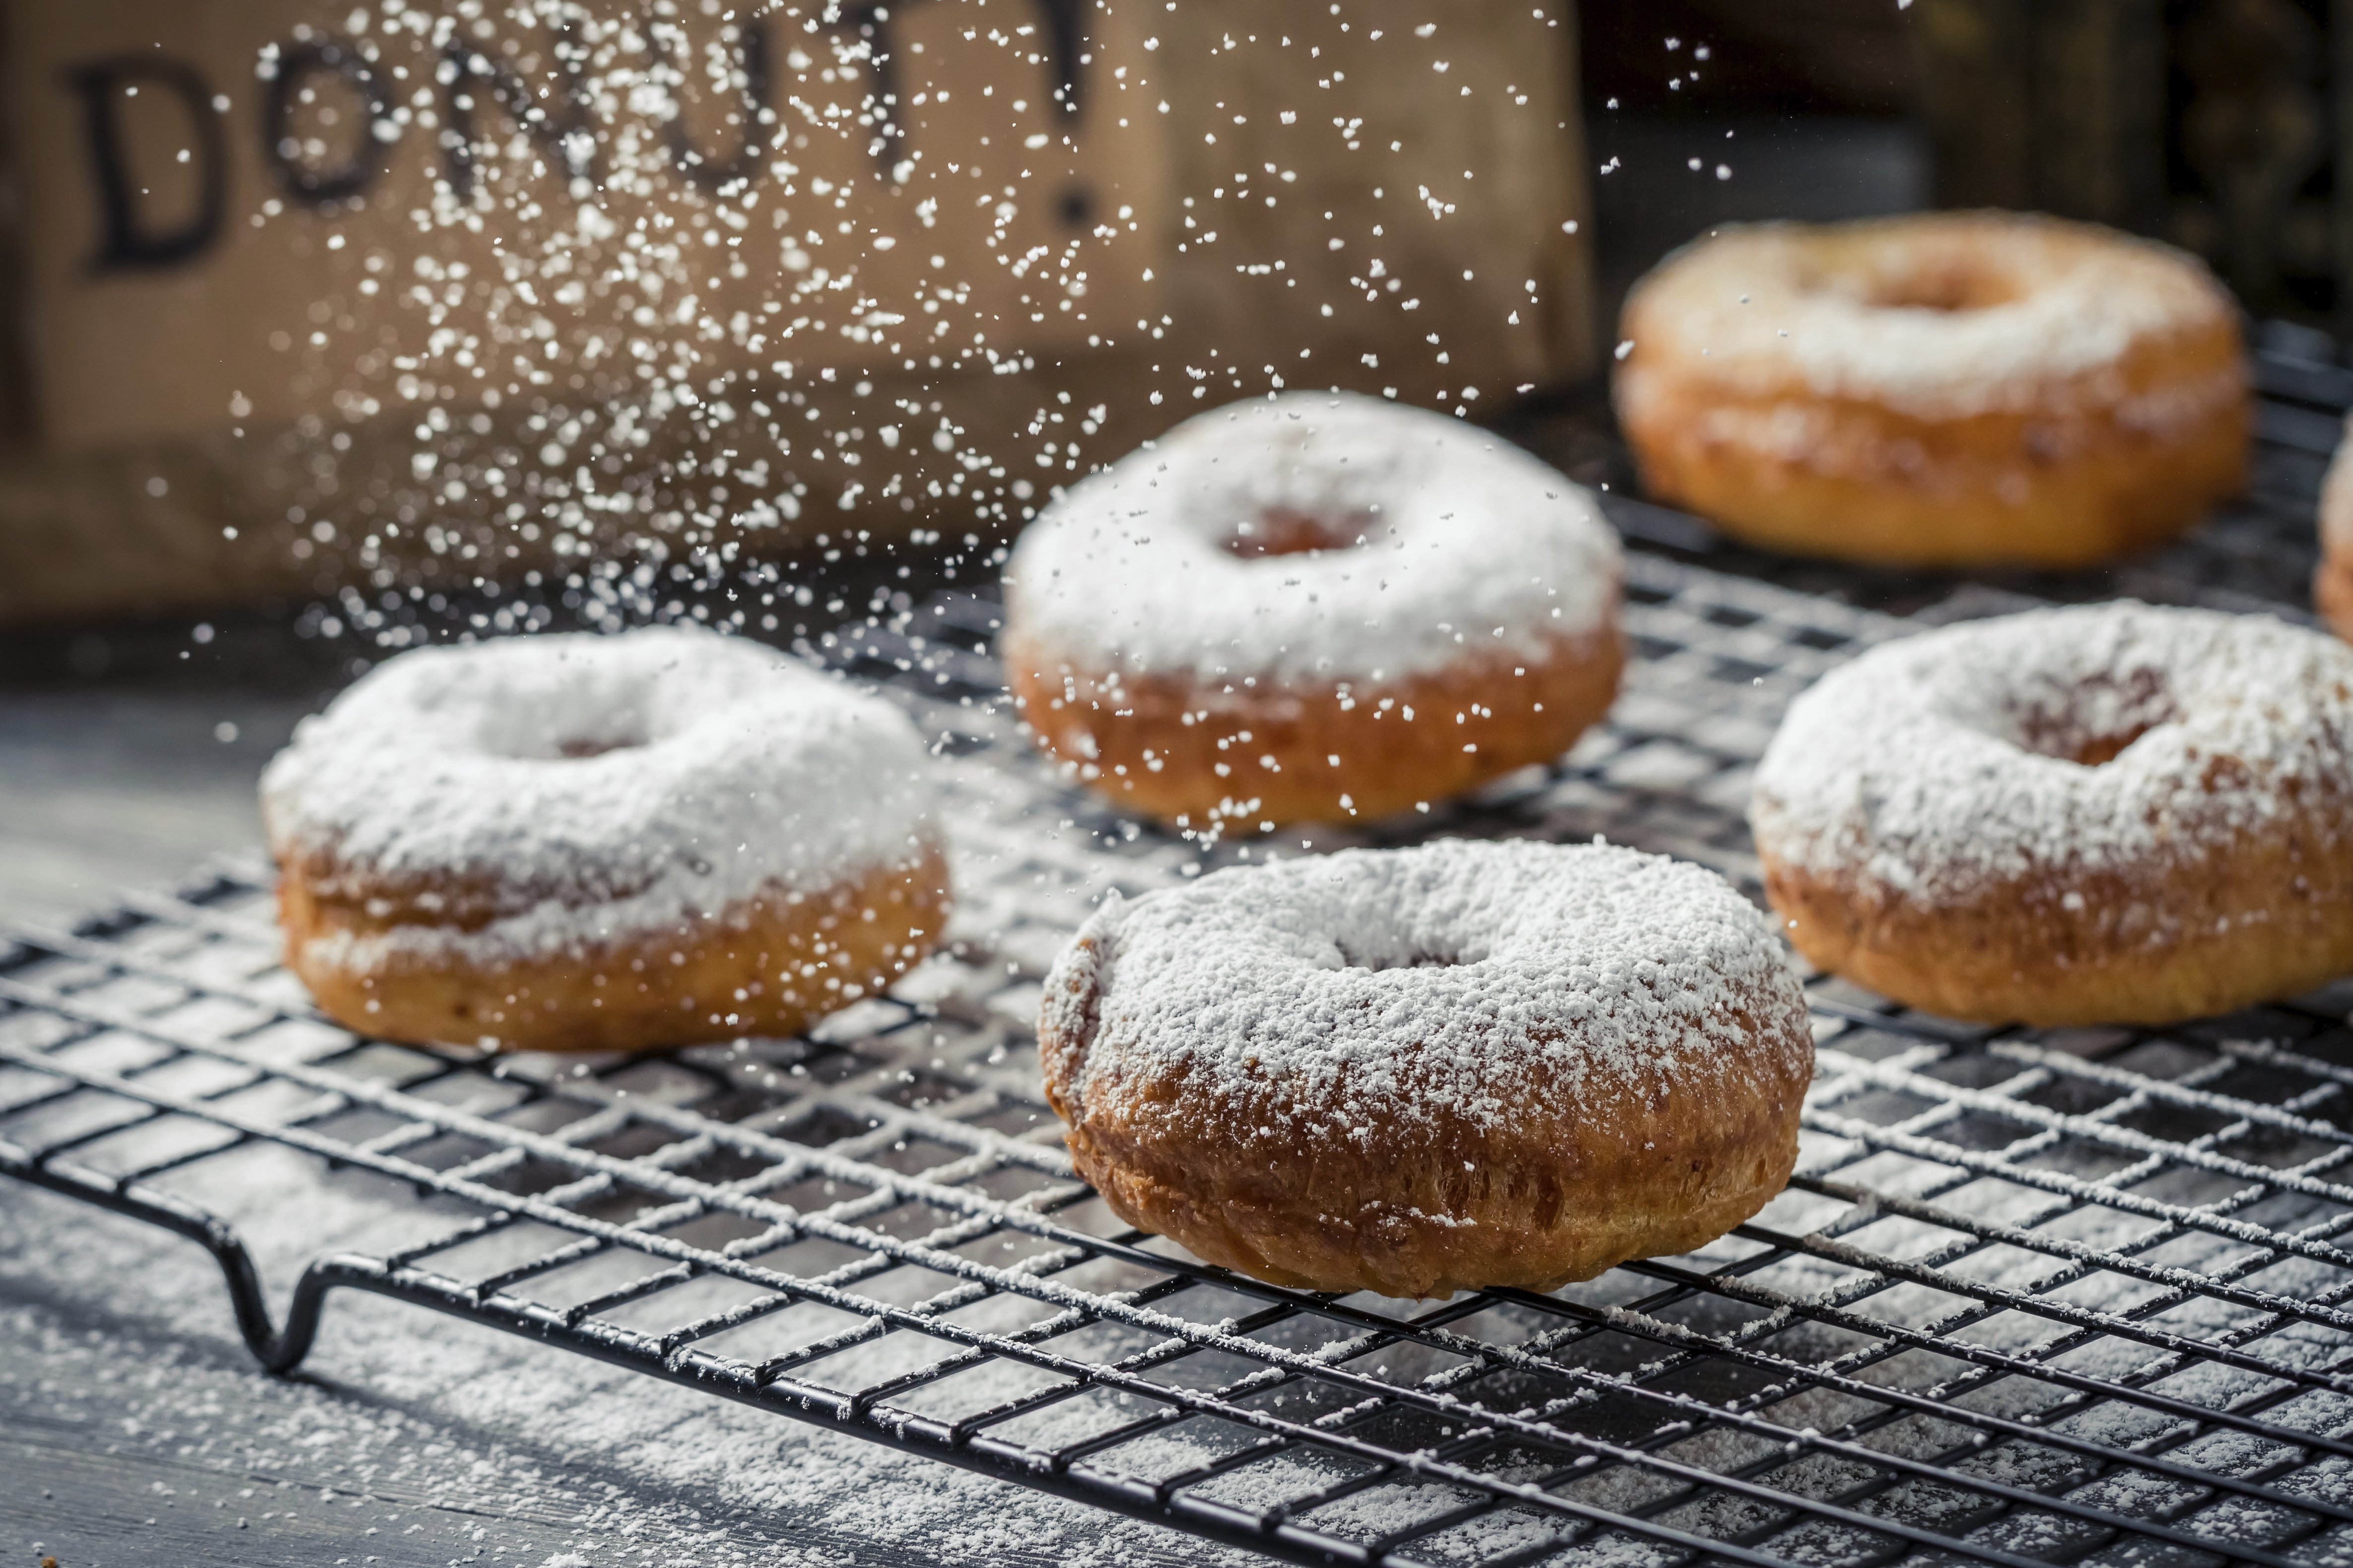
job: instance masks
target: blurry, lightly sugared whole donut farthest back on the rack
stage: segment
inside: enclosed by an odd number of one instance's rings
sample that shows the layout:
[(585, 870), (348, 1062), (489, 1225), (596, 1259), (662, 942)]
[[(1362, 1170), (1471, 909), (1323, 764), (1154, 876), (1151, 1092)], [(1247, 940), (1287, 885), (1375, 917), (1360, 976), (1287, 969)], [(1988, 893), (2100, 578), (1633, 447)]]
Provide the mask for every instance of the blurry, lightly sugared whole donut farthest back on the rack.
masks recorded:
[(2191, 256), (1993, 212), (1729, 228), (1626, 301), (1645, 489), (1892, 567), (2080, 567), (2238, 494), (2238, 308)]

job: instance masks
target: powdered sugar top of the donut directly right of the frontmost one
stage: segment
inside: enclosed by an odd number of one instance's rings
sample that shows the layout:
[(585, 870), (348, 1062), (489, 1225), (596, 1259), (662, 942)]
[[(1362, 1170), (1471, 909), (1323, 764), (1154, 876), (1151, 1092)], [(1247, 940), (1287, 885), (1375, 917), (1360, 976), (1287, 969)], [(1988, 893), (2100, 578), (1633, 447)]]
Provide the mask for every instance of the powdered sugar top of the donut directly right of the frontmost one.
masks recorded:
[(2118, 602), (1871, 649), (1791, 703), (1755, 776), (1772, 856), (1922, 903), (2353, 830), (2353, 649)]

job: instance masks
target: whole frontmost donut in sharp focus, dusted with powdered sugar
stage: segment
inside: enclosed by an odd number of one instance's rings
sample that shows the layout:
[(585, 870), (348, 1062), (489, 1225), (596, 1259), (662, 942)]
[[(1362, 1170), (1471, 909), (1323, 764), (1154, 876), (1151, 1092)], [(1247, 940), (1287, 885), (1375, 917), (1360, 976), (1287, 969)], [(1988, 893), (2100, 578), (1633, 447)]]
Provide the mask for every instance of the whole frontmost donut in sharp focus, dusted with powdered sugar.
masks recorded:
[(1718, 875), (1435, 842), (1106, 898), (1047, 976), (1045, 1093), (1129, 1225), (1304, 1291), (1551, 1291), (1772, 1199), (1805, 992)]

